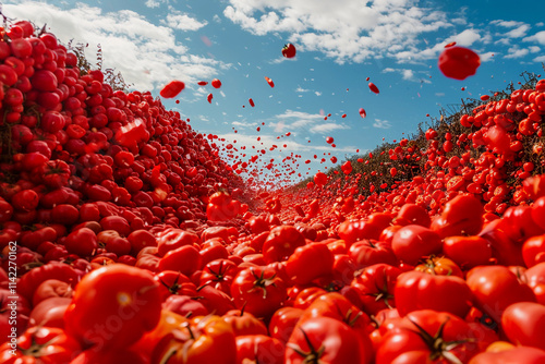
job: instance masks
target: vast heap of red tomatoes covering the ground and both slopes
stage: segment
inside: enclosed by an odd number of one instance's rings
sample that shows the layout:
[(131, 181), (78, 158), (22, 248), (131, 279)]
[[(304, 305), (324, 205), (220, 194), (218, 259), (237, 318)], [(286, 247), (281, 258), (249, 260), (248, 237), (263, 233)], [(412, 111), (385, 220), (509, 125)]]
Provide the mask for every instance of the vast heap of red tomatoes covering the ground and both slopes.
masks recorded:
[(402, 139), (423, 175), (355, 197), (348, 161), (251, 209), (214, 137), (28, 22), (1, 32), (2, 363), (545, 361), (545, 175), (520, 158), (545, 83), (462, 117), (471, 136)]

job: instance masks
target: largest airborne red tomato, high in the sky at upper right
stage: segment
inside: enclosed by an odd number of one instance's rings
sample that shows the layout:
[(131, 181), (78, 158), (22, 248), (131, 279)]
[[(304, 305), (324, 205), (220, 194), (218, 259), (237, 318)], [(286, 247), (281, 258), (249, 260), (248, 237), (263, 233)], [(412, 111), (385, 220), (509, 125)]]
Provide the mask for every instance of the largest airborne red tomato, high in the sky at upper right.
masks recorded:
[(438, 66), (449, 78), (465, 80), (481, 65), (479, 54), (469, 48), (449, 47), (439, 56)]

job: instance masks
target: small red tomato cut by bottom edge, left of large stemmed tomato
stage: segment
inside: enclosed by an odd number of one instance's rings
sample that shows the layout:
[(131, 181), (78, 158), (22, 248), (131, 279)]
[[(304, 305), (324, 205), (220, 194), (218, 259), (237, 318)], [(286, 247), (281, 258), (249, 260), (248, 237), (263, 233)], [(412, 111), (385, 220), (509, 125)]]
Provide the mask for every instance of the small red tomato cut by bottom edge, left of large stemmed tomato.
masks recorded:
[(237, 363), (282, 364), (284, 345), (266, 335), (237, 337)]

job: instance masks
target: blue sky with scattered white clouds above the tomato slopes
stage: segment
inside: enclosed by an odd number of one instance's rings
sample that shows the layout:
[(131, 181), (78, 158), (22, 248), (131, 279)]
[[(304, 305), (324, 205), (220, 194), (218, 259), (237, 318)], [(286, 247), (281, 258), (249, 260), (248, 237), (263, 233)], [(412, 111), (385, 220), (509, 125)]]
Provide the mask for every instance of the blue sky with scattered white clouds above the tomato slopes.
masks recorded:
[[(88, 44), (92, 63), (100, 44), (104, 68), (121, 71), (134, 89), (158, 95), (171, 80), (185, 82), (180, 104), (164, 100), (167, 108), (190, 118), (198, 132), (232, 143), (246, 154), (240, 160), (266, 149), (249, 171), (261, 180), (270, 179), (263, 168), (274, 158), (280, 179), (293, 182), (334, 166), (334, 155), (342, 162), (383, 137), (391, 142), (413, 133), (429, 120), (427, 113), (437, 118), (441, 107), (461, 98), (522, 81), (522, 71), (544, 72), (544, 12), (545, 3), (534, 0), (3, 2), (9, 17), (47, 23), (63, 43)], [(481, 56), (474, 76), (457, 81), (440, 73), (437, 58), (450, 41)], [(294, 59), (282, 58), (286, 43), (298, 48)], [(215, 77), (220, 89), (196, 84)], [(270, 151), (272, 145), (278, 148)], [(282, 163), (290, 155), (301, 158)], [(288, 174), (290, 168), (295, 173)]]

